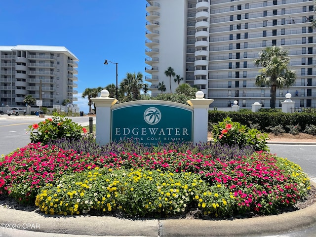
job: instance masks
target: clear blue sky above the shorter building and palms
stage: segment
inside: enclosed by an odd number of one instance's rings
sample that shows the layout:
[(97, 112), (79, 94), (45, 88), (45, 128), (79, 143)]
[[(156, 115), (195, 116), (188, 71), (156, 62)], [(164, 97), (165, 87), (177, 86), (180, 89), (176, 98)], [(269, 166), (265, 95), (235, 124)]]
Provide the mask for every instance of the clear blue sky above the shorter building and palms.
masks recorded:
[(1, 0), (0, 45), (65, 46), (79, 59), (78, 102), (85, 88), (145, 75), (146, 0)]

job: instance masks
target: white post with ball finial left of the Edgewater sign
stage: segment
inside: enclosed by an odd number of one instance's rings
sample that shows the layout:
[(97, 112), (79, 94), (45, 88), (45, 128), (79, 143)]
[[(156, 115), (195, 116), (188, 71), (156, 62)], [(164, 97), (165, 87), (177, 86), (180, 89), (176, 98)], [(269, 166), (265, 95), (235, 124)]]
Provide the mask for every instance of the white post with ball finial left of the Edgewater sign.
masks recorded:
[(109, 94), (108, 90), (102, 90), (100, 97), (91, 98), (96, 104), (96, 143), (101, 146), (111, 141), (111, 107), (118, 101)]

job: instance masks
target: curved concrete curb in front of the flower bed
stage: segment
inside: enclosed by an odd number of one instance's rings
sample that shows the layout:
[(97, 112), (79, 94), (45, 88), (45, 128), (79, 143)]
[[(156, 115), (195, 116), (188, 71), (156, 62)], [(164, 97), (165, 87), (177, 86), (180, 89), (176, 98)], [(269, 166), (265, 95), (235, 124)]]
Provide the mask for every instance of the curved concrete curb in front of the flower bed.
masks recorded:
[[(313, 183), (316, 186), (315, 183)], [(142, 236), (233, 237), (276, 235), (316, 224), (316, 203), (289, 213), (234, 220), (122, 219), (109, 216), (51, 216), (0, 206), (0, 237)], [(62, 235), (56, 235), (62, 234)], [(65, 235), (66, 234), (66, 235)]]

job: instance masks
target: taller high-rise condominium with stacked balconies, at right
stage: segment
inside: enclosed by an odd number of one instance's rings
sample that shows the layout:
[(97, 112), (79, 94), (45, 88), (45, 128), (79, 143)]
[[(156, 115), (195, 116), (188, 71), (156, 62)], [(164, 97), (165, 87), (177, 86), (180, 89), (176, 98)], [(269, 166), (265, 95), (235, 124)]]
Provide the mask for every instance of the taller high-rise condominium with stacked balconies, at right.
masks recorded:
[[(254, 60), (267, 46), (282, 46), (296, 71), (296, 83), (277, 89), (276, 107), (287, 92), (295, 107), (316, 107), (316, 32), (314, 1), (308, 0), (147, 0), (145, 79), (152, 95), (170, 92), (172, 67), (195, 85), (211, 107), (254, 102), (270, 107), (271, 88), (255, 86)], [(171, 91), (178, 86), (171, 78)]]

